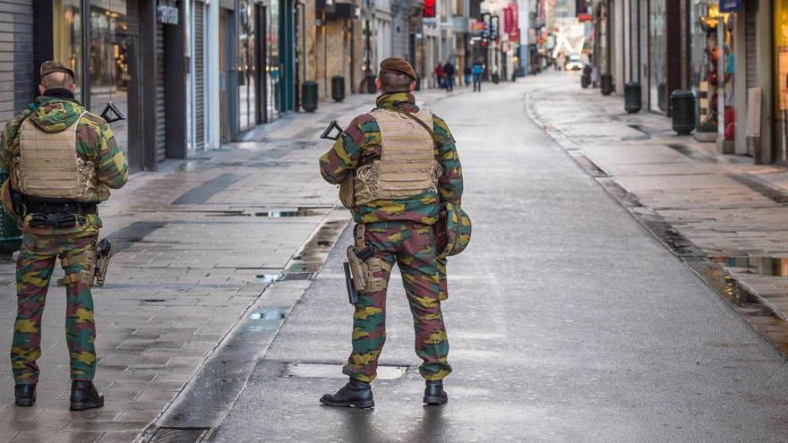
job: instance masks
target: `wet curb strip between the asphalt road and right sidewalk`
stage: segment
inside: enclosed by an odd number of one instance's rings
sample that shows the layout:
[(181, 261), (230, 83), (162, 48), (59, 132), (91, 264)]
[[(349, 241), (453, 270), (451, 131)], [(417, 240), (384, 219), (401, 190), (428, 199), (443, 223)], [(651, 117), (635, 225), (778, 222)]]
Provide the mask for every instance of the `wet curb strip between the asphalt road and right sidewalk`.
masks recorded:
[[(525, 94), (525, 108), (528, 118), (547, 134), (548, 137), (621, 208), (626, 209), (632, 218), (638, 221), (646, 231), (654, 236), (662, 245), (700, 278), (703, 283), (713, 289), (725, 302), (741, 315), (747, 324), (758, 332), (768, 343), (788, 361), (788, 316), (769, 302), (766, 297), (758, 294), (751, 285), (741, 280), (722, 264), (712, 260), (705, 252), (681, 232), (667, 223), (654, 209), (643, 206), (638, 196), (618, 183), (602, 166), (583, 154), (582, 149), (560, 129), (546, 124), (535, 110), (530, 92)], [(633, 209), (638, 209), (633, 210)]]

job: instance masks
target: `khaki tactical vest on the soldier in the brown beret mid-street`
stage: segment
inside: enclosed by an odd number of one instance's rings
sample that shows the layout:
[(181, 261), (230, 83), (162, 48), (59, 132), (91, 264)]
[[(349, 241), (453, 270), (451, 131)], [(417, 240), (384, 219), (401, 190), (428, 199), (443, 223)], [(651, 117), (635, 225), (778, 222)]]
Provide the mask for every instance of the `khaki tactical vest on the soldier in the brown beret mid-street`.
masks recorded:
[[(435, 159), (432, 134), (406, 115), (385, 109), (376, 109), (372, 115), (381, 128), (381, 159), (355, 171), (355, 205), (436, 191), (441, 166)], [(432, 113), (422, 110), (414, 116), (433, 126)]]

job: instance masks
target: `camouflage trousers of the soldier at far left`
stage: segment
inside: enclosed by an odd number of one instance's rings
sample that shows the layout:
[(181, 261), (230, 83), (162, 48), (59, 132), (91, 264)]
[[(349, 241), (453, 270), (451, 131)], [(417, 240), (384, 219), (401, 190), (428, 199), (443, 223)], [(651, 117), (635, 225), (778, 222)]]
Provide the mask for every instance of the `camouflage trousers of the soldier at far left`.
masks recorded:
[(71, 377), (91, 380), (96, 372), (96, 323), (90, 286), (80, 278), (90, 265), (85, 260), (94, 249), (96, 235), (30, 235), (22, 237), (16, 262), (17, 314), (13, 326), (11, 367), (17, 384), (36, 383), (41, 356), (41, 316), (55, 261), (64, 269), (65, 338), (71, 357)]

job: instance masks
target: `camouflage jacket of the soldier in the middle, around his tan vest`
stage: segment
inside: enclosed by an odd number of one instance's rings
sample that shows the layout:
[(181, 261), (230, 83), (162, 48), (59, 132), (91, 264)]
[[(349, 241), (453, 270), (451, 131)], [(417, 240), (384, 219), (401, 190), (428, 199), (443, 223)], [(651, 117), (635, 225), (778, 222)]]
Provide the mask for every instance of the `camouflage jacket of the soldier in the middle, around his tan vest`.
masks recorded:
[[(378, 109), (398, 108), (407, 112), (419, 111), (415, 98), (408, 93), (383, 94), (377, 100)], [(438, 192), (427, 191), (407, 199), (374, 200), (353, 209), (356, 223), (377, 221), (413, 221), (434, 225), (438, 221), (441, 202), (461, 204), (462, 166), (449, 126), (433, 115), (433, 132), (445, 143), (435, 143), (435, 158), (441, 163), (443, 175), (438, 179)], [(329, 183), (342, 183), (347, 174), (381, 158), (381, 129), (373, 115), (358, 115), (320, 159), (321, 174)]]

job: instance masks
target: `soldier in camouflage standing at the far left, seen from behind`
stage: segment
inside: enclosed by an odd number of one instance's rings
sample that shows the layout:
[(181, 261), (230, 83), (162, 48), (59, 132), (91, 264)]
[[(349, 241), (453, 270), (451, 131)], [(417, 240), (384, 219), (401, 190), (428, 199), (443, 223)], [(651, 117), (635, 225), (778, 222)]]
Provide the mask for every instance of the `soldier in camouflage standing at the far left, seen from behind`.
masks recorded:
[(4, 209), (20, 222), (16, 265), (17, 319), (11, 364), (16, 405), (36, 401), (41, 355), (41, 316), (56, 259), (65, 277), (66, 342), (71, 357), (71, 408), (104, 405), (92, 379), (96, 372), (96, 324), (90, 285), (101, 227), (97, 211), (109, 188), (128, 180), (128, 166), (112, 130), (75, 99), (74, 74), (57, 62), (41, 65), (40, 97), (5, 126), (0, 166)]

